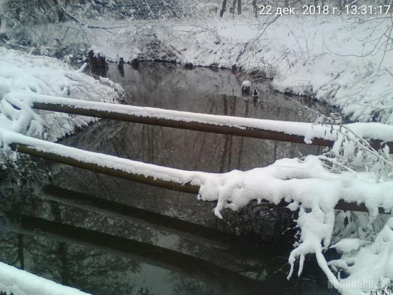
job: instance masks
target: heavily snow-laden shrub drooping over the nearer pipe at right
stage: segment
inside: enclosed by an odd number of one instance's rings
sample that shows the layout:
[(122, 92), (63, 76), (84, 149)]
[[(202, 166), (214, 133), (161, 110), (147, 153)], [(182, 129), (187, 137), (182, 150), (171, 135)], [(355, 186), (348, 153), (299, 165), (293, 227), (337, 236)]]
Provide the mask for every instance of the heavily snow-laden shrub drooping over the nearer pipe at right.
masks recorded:
[[(359, 282), (375, 280), (376, 277), (385, 283), (393, 276), (389, 266), (393, 248), (386, 244), (389, 242), (387, 239), (390, 239), (389, 232), (392, 232), (393, 219), (378, 216), (378, 207), (383, 207), (386, 211), (393, 209), (393, 199), (389, 193), (392, 192), (393, 181), (378, 183), (378, 176), (369, 171), (349, 170), (338, 173), (335, 169), (332, 171), (331, 165), (326, 165), (324, 159), (326, 157), (317, 156), (281, 159), (265, 168), (231, 171), (208, 177), (201, 183), (199, 198), (206, 201), (217, 200), (214, 212), (219, 218), (222, 218), (224, 209), (237, 211), (254, 199), (258, 202), (267, 200), (273, 204), (281, 201), (290, 203), (288, 209), (299, 211), (296, 223), (300, 237), (289, 257), (291, 271), (288, 277), (293, 275), (297, 261), (300, 275), (305, 256), (315, 254), (329, 282), (342, 294), (371, 291), (372, 287), (362, 287), (362, 284), (355, 289), (347, 289), (345, 284), (355, 279)], [(347, 203), (364, 203), (370, 213), (336, 213), (334, 207), (340, 199)], [(378, 228), (382, 230), (379, 231)], [(349, 240), (341, 240), (343, 238)], [(331, 247), (332, 241), (338, 242), (333, 246), (336, 249), (350, 252), (349, 256), (341, 258), (341, 261), (348, 263), (346, 268), (340, 261), (326, 261), (324, 251)], [(383, 243), (387, 247), (383, 248)], [(378, 257), (373, 256), (380, 253), (382, 254)], [(367, 260), (369, 265), (362, 262), (366, 256), (371, 257)], [(367, 266), (378, 268), (378, 272), (375, 271), (371, 277)], [(344, 279), (340, 277), (340, 273), (349, 274), (350, 278)]]

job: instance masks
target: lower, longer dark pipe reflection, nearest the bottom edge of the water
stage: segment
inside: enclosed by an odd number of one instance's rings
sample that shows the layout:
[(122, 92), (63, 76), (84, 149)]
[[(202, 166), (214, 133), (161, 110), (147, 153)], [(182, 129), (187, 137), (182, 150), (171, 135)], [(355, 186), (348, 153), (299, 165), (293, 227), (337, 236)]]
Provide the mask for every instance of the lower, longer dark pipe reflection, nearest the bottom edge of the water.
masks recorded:
[(274, 288), (277, 289), (277, 285), (271, 280), (267, 280), (267, 282), (251, 280), (208, 261), (171, 249), (77, 228), (72, 225), (46, 221), (42, 218), (25, 215), (15, 216), (11, 212), (5, 212), (5, 214), (14, 216), (18, 220), (15, 224), (4, 225), (6, 230), (25, 235), (48, 237), (59, 242), (80, 244), (88, 248), (132, 258), (188, 277), (195, 277), (208, 284), (209, 287), (218, 289), (220, 294), (246, 294), (245, 291), (251, 291), (250, 294), (260, 294), (260, 290), (267, 294), (273, 294)]

